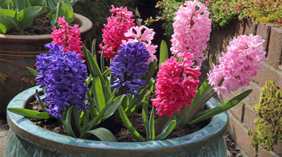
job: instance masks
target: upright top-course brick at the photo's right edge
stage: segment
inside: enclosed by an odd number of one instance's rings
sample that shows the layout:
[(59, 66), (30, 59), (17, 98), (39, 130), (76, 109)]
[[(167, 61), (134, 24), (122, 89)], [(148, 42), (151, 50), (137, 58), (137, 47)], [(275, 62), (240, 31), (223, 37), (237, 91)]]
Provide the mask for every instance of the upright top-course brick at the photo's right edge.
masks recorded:
[(271, 28), (266, 62), (278, 69), (282, 57), (282, 28)]

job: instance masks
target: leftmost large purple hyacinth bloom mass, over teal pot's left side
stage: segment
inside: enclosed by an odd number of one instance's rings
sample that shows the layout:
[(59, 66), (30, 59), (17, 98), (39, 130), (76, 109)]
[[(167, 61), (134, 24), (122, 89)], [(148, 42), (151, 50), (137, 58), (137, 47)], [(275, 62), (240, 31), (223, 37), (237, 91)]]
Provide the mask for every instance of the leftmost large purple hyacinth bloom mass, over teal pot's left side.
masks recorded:
[(84, 110), (84, 106), (88, 108), (89, 104), (84, 102), (88, 88), (85, 85), (87, 69), (83, 60), (75, 51), (63, 53), (62, 47), (53, 43), (46, 44), (46, 47), (50, 49), (49, 54), (38, 55), (36, 58), (37, 69), (45, 70), (40, 71), (39, 75), (42, 76), (37, 78), (47, 88), (45, 102), (49, 102), (50, 106), (45, 110), (54, 117), (63, 118), (65, 106), (81, 110)]

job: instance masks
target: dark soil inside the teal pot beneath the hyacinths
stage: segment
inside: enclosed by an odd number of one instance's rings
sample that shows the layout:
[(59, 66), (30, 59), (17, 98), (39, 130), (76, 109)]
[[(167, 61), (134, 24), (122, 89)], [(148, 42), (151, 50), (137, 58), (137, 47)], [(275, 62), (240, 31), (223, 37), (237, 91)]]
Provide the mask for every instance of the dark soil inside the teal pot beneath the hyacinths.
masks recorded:
[[(27, 109), (30, 110), (35, 110), (42, 112), (41, 106), (36, 103), (32, 102), (30, 105), (26, 107)], [(149, 105), (148, 107), (148, 115), (150, 115), (150, 112), (152, 110), (152, 106)], [(205, 109), (202, 109), (202, 111)], [(201, 112), (202, 112), (201, 111)], [(157, 115), (155, 114), (155, 123), (157, 119)], [(58, 119), (46, 119), (46, 120), (38, 120), (38, 119), (33, 119), (29, 118), (32, 122), (34, 122), (36, 125), (43, 127), (44, 129), (47, 129), (49, 131), (53, 131), (56, 133), (60, 133), (63, 135), (67, 135), (67, 132), (62, 128), (61, 124), (58, 122)], [(175, 137), (181, 137), (184, 135), (188, 135), (190, 133), (196, 132), (203, 127), (205, 127), (211, 119), (205, 120), (203, 122), (198, 123), (197, 125), (186, 125), (185, 127), (181, 128), (177, 126), (173, 131), (165, 138), (165, 139), (171, 139)], [(138, 131), (138, 133), (145, 139), (146, 138), (146, 131), (144, 128), (143, 120), (142, 120), (142, 109), (139, 109), (134, 116), (129, 118), (129, 121), (131, 122), (132, 126)], [(120, 118), (116, 118), (114, 115), (108, 118), (107, 120), (101, 122), (96, 126), (98, 127), (104, 127), (113, 133), (115, 135), (116, 139), (118, 142), (136, 142), (136, 139), (132, 137), (130, 132), (126, 129), (126, 127), (123, 125), (122, 121)], [(89, 139), (93, 140), (98, 140), (97, 137), (95, 136), (90, 136)]]

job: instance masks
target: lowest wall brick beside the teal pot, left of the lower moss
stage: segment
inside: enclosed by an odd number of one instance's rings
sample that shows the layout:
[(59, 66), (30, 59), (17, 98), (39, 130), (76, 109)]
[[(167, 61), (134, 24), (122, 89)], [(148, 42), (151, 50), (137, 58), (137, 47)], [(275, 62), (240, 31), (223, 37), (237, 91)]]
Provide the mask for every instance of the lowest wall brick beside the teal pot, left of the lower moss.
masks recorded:
[(228, 133), (248, 156), (255, 156), (254, 147), (251, 145), (251, 137), (248, 135), (248, 129), (232, 113), (229, 114)]

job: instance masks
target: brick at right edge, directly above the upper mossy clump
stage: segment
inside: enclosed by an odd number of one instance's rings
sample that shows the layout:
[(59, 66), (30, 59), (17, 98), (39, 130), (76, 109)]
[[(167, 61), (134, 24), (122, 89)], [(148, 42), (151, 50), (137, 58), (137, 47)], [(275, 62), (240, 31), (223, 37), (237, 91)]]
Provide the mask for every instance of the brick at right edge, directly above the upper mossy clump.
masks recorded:
[(263, 69), (259, 70), (258, 74), (254, 78), (254, 81), (260, 85), (265, 85), (265, 82), (272, 79), (274, 83), (281, 89), (282, 87), (282, 71), (275, 69), (265, 61), (262, 62)]

